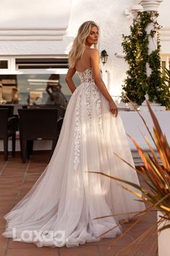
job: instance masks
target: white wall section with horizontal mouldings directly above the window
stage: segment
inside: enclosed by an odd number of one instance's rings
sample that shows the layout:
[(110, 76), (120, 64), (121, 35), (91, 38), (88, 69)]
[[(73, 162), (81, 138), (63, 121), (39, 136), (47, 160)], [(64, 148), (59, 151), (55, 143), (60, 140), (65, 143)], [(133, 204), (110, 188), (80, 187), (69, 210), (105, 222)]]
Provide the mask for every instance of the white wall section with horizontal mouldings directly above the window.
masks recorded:
[(72, 0), (1, 0), (0, 55), (63, 54)]

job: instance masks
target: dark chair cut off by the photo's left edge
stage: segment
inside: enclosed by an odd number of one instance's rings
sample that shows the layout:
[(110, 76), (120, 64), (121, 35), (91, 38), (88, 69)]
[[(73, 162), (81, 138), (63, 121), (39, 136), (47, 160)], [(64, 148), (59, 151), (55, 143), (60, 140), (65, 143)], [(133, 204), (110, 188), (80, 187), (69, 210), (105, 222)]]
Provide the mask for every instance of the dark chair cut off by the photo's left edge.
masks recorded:
[(4, 161), (8, 160), (8, 139), (12, 137), (12, 156), (15, 155), (16, 118), (10, 116), (9, 108), (0, 108), (0, 139), (4, 142)]

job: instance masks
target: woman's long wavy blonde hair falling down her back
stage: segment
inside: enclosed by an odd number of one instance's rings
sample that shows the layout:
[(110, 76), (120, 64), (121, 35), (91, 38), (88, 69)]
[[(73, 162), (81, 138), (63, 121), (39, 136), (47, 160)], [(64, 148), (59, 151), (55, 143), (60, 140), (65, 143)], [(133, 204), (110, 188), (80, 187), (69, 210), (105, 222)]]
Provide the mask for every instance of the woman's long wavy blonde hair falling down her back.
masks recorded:
[[(86, 38), (88, 37), (91, 27), (97, 27), (99, 30), (99, 26), (94, 21), (86, 21), (79, 27), (76, 38), (73, 40), (73, 46), (71, 47), (71, 51), (68, 54), (68, 66), (73, 68), (76, 64), (76, 61), (81, 58), (86, 49)], [(96, 48), (96, 45), (94, 45)]]

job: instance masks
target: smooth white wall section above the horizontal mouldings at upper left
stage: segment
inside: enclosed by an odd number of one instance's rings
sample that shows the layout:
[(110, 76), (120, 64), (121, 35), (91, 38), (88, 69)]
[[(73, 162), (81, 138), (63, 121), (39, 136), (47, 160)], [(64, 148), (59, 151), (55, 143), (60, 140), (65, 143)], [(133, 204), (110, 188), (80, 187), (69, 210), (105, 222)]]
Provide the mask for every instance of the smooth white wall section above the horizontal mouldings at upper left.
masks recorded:
[(70, 6), (70, 0), (1, 0), (0, 28), (64, 28)]

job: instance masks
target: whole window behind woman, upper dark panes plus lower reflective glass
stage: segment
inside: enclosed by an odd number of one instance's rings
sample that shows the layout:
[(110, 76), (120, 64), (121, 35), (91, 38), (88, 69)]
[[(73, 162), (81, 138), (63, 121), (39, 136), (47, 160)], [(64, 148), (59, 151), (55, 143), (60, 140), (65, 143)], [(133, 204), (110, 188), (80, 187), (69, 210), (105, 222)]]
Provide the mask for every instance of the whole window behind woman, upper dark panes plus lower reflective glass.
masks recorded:
[[(71, 90), (66, 84), (68, 57), (16, 58), (11, 74), (0, 72), (0, 103), (54, 104), (68, 103)], [(79, 85), (78, 74), (73, 76)]]

